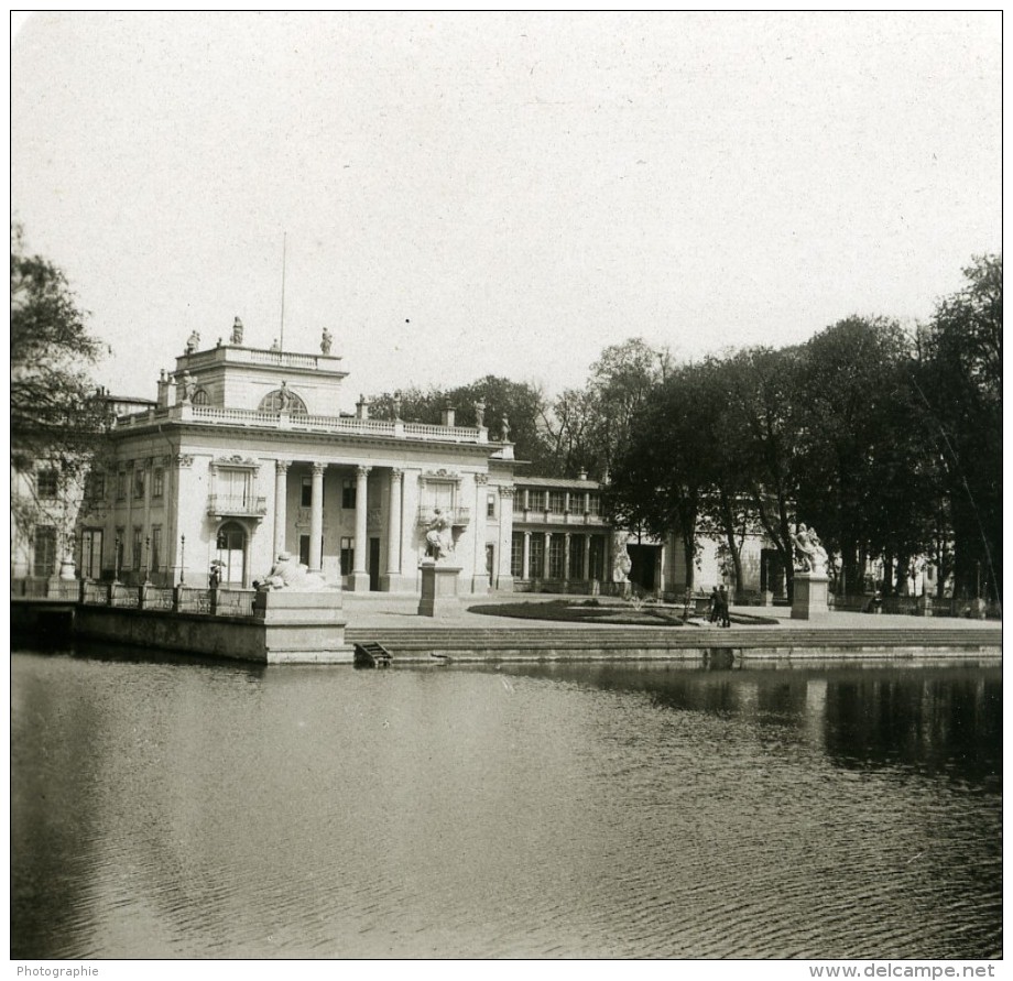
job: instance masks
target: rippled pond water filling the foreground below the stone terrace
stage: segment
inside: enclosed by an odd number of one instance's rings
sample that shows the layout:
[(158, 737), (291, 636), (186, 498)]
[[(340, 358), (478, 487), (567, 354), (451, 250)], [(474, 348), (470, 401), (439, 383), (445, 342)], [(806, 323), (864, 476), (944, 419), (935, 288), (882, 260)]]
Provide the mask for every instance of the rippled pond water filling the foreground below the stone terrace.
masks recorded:
[(13, 658), (15, 957), (980, 957), (994, 667)]

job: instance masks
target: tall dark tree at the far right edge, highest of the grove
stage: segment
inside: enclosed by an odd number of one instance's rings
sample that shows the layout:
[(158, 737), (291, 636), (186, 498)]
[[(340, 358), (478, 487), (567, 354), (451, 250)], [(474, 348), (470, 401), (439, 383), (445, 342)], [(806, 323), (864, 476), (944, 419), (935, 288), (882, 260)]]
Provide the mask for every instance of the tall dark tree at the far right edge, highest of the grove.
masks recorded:
[(1002, 597), (1002, 255), (974, 257), (965, 287), (921, 331), (913, 373), (941, 468), (958, 593)]

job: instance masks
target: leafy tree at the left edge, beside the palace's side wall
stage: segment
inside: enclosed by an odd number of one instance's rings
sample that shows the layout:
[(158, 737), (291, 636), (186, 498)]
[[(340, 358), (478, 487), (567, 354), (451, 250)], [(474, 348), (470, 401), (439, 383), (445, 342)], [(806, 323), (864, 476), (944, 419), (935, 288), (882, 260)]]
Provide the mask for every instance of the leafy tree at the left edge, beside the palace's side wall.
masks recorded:
[[(15, 524), (29, 530), (40, 511), (52, 515), (80, 488), (99, 444), (104, 404), (88, 368), (102, 346), (88, 334), (64, 273), (25, 251), (19, 225), (11, 226), (11, 470)], [(35, 479), (44, 469), (47, 477)], [(48, 475), (59, 492), (51, 495)], [(67, 533), (67, 531), (65, 531)]]

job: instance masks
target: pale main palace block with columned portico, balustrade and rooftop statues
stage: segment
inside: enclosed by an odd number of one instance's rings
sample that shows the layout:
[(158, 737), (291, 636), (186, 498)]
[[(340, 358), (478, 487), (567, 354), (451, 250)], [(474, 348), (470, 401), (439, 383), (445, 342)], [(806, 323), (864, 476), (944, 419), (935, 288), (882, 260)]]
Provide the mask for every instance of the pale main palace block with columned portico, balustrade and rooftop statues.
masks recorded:
[(192, 339), (156, 404), (110, 433), (78, 533), (104, 576), (205, 585), (214, 567), (250, 587), (290, 552), (347, 589), (416, 591), (439, 509), (462, 591), (511, 589), (512, 444), (453, 410), (443, 425), (370, 418), (361, 397), (346, 411), (347, 372), (322, 348)]

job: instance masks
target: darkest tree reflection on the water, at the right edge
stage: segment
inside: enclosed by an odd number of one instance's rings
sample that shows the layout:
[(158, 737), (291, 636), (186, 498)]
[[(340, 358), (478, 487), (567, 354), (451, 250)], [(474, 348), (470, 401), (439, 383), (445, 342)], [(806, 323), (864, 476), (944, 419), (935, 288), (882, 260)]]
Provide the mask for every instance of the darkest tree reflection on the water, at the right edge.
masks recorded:
[(826, 748), (849, 767), (902, 765), (999, 789), (999, 669), (898, 672), (827, 686)]

